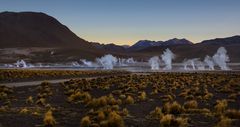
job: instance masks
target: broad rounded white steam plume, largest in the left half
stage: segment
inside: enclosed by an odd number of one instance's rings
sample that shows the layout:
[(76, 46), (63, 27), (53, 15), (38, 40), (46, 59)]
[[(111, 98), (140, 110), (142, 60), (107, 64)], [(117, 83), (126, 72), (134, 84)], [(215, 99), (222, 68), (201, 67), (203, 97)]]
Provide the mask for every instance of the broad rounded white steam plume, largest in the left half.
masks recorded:
[(103, 67), (103, 69), (113, 69), (113, 66), (118, 60), (111, 54), (107, 54), (101, 58), (97, 58), (96, 61)]

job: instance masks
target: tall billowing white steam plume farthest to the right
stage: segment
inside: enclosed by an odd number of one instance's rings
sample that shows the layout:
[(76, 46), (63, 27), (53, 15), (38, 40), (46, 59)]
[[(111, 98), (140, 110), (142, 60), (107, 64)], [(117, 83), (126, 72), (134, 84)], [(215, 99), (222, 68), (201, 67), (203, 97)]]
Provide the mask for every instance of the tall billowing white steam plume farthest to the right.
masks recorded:
[(224, 47), (218, 48), (217, 52), (213, 55), (213, 60), (218, 65), (221, 70), (229, 70), (226, 62), (229, 62), (229, 57), (227, 55), (227, 50)]

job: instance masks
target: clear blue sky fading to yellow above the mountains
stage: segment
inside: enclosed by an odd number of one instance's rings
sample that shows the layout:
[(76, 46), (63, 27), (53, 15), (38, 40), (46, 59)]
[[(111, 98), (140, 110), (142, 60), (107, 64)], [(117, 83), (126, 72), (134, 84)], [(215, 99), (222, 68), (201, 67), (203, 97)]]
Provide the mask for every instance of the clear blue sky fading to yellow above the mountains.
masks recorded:
[(43, 12), (105, 44), (240, 35), (240, 0), (0, 0), (3, 11)]

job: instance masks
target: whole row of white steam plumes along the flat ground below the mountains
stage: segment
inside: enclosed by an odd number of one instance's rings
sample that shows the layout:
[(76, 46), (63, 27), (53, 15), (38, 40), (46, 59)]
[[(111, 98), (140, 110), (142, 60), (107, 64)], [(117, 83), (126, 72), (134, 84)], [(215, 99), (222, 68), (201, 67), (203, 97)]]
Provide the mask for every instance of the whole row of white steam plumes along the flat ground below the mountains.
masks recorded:
[[(148, 64), (151, 66), (151, 70), (160, 70), (161, 65), (165, 65), (162, 70), (172, 70), (172, 60), (175, 58), (174, 53), (166, 49), (162, 55), (153, 56), (148, 60)], [(181, 63), (183, 65), (184, 70), (215, 70), (215, 66), (219, 66), (221, 70), (230, 70), (227, 66), (227, 62), (229, 62), (229, 56), (227, 55), (227, 50), (224, 47), (220, 47), (217, 52), (211, 57), (206, 55), (203, 61), (200, 58), (192, 58), (192, 59), (184, 59)], [(113, 69), (114, 66), (121, 68), (124, 66), (124, 69), (130, 68), (138, 68), (136, 70), (141, 70), (145, 65), (145, 62), (135, 61), (133, 58), (117, 58), (111, 54), (104, 55), (100, 58), (96, 58), (96, 61), (87, 61), (86, 59), (80, 59), (75, 62), (67, 62), (67, 63), (35, 63), (30, 64), (26, 63), (24, 60), (18, 60), (14, 64), (4, 64), (4, 67), (7, 68), (43, 68), (43, 67), (56, 67), (56, 68), (64, 68), (64, 67), (74, 67), (74, 68), (85, 68), (85, 69)], [(177, 64), (176, 64), (177, 65)], [(1, 66), (1, 65), (0, 65)], [(126, 66), (129, 66), (129, 68)], [(175, 67), (175, 66), (174, 66)]]

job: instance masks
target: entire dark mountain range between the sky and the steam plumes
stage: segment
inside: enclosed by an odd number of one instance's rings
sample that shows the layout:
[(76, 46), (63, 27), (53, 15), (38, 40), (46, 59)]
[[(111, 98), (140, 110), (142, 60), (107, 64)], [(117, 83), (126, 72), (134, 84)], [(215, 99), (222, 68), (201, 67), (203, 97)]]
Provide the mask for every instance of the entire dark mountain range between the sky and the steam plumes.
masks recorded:
[(64, 62), (79, 59), (93, 60), (104, 54), (147, 60), (170, 48), (177, 56), (204, 58), (213, 55), (220, 46), (226, 47), (230, 60), (240, 62), (240, 36), (192, 43), (187, 39), (167, 41), (140, 40), (132, 46), (88, 42), (74, 34), (57, 19), (39, 12), (0, 13), (0, 61)]

